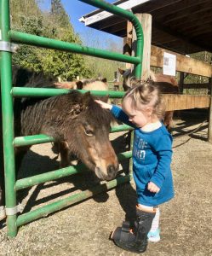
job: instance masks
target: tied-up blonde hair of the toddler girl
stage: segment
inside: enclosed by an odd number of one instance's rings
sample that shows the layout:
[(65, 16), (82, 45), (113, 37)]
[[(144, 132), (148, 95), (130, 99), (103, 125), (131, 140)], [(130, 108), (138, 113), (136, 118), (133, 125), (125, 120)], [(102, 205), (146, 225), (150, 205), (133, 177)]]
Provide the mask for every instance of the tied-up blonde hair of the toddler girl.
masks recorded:
[(162, 119), (165, 112), (165, 106), (162, 101), (162, 96), (157, 85), (152, 80), (134, 81), (133, 88), (123, 96), (123, 104), (126, 99), (132, 100), (132, 107), (140, 109), (142, 106), (152, 107), (152, 114), (156, 114), (159, 119)]

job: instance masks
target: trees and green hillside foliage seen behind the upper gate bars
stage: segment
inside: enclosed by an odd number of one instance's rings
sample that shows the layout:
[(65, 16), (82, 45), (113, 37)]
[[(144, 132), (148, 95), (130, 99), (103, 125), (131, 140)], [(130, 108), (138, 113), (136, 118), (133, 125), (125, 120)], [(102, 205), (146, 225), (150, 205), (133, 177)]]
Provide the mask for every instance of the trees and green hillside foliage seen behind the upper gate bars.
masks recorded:
[[(33, 35), (54, 38), (65, 42), (83, 44), (79, 35), (74, 32), (70, 17), (66, 14), (60, 0), (51, 0), (51, 9), (43, 11), (39, 9), (39, 0), (10, 0), (11, 26), (14, 30), (31, 33)], [(96, 38), (95, 32), (87, 35), (86, 43), (92, 40), (93, 47), (100, 48), (102, 38)], [(122, 50), (114, 42), (109, 44), (112, 51)], [(17, 53), (13, 55), (13, 62), (21, 67), (43, 71), (62, 80), (88, 78), (114, 79), (114, 72), (124, 64), (117, 61), (109, 61), (92, 56), (77, 55), (60, 50), (41, 49), (37, 47), (20, 45)]]

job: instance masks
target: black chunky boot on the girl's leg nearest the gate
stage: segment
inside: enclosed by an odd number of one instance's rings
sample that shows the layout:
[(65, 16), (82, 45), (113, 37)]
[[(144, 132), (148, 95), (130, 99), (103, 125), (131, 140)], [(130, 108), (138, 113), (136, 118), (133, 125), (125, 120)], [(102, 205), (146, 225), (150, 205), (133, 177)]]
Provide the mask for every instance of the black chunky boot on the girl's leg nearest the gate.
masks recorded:
[(137, 208), (135, 227), (130, 230), (129, 223), (123, 222), (112, 233), (112, 240), (118, 247), (134, 253), (144, 253), (148, 244), (147, 234), (152, 227), (152, 220), (155, 212), (145, 212)]

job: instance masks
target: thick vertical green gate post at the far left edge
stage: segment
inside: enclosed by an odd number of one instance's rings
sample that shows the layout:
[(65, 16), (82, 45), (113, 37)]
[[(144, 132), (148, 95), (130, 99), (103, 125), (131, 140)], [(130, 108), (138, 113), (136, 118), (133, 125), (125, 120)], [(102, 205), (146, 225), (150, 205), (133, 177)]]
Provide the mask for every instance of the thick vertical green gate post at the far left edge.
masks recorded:
[[(9, 1), (0, 1), (0, 30), (1, 41), (9, 46)], [(0, 42), (1, 42), (0, 41)], [(3, 164), (5, 177), (6, 208), (9, 215), (7, 218), (8, 236), (16, 236), (16, 191), (15, 167), (14, 167), (14, 119), (13, 119), (13, 96), (12, 89), (12, 54), (9, 51), (1, 52), (1, 92), (2, 92), (2, 116), (3, 116)]]

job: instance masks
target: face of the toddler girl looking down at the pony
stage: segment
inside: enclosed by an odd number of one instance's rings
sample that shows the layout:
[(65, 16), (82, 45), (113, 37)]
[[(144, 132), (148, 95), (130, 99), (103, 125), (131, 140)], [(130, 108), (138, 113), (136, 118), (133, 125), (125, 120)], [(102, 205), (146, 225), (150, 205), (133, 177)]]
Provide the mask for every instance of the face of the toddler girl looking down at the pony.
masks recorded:
[(129, 121), (138, 128), (142, 128), (151, 122), (152, 108), (142, 105), (139, 109), (134, 108), (131, 98), (124, 99), (123, 111), (129, 116)]

